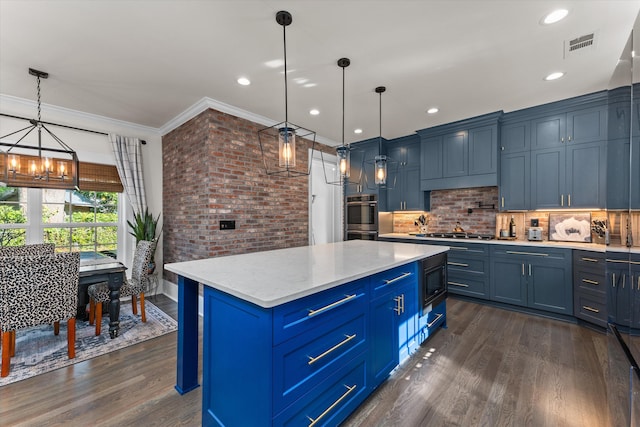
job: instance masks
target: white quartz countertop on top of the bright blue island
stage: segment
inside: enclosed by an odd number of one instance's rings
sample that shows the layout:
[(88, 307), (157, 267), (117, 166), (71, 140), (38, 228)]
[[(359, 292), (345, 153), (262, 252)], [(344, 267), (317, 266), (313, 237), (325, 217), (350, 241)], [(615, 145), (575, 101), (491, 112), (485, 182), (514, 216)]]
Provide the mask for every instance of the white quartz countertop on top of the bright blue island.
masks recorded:
[(449, 248), (349, 240), (165, 264), (164, 268), (270, 308)]

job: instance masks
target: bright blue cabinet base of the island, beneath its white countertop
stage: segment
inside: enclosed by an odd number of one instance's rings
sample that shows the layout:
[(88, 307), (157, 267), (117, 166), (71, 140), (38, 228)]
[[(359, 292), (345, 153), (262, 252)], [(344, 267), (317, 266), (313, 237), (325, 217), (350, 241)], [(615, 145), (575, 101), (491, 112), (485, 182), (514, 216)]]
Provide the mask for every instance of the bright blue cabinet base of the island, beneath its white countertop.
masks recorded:
[(205, 286), (202, 424), (340, 424), (444, 322), (418, 334), (417, 266), (270, 309)]

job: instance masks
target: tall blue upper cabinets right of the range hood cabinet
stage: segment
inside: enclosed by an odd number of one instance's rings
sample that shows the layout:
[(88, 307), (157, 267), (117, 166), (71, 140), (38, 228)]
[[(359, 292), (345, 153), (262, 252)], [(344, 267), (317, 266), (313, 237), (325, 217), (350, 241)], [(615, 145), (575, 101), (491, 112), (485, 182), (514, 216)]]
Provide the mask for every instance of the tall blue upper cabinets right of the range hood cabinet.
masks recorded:
[(604, 208), (606, 146), (606, 92), (505, 114), (500, 209)]

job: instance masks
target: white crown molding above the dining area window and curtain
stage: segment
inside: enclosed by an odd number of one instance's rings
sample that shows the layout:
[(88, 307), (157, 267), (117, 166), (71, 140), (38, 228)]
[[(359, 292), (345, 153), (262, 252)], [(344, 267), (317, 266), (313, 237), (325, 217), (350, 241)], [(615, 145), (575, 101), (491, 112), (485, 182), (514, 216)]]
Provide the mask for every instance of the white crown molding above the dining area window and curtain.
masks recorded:
[[(70, 108), (59, 107), (57, 105), (45, 104), (42, 103), (42, 111), (47, 114), (56, 114), (62, 115), (65, 118), (69, 117), (69, 122), (71, 123), (61, 123), (68, 124), (73, 126), (73, 119), (76, 120), (88, 120), (94, 122), (93, 126), (95, 127), (103, 127), (103, 129), (96, 129), (96, 131), (108, 133), (108, 131), (104, 129), (130, 129), (132, 133), (137, 134), (156, 134), (160, 135), (160, 130), (158, 128), (153, 128), (150, 126), (143, 126), (132, 122), (126, 122), (124, 120), (116, 120), (105, 116), (99, 116), (97, 114), (85, 113), (83, 111), (72, 110)], [(4, 95), (0, 94), (0, 106), (2, 110), (8, 109), (16, 109), (16, 108), (31, 108), (34, 111), (38, 108), (38, 104), (35, 101), (31, 101), (29, 99), (18, 98), (17, 96), (12, 95)]]

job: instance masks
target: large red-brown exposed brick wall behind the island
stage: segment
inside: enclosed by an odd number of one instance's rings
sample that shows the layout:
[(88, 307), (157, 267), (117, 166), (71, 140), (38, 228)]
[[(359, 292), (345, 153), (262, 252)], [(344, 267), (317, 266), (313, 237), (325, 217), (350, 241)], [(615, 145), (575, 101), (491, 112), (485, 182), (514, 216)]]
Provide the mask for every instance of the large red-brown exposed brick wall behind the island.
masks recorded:
[[(210, 109), (162, 138), (165, 263), (308, 244), (308, 177), (265, 174), (262, 128)], [(311, 144), (296, 145), (304, 169)], [(220, 230), (220, 220), (235, 220), (236, 229)]]

